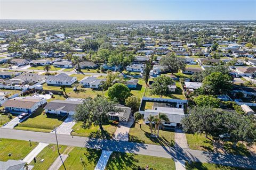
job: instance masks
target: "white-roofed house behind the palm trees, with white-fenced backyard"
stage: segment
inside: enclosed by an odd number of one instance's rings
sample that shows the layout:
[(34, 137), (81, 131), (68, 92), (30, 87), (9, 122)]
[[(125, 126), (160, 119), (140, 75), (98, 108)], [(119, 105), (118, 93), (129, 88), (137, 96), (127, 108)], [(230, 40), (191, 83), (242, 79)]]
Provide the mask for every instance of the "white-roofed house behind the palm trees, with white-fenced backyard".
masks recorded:
[(158, 113), (166, 114), (170, 122), (164, 122), (164, 127), (178, 126), (181, 124), (181, 120), (185, 117), (183, 108), (174, 108), (174, 107), (156, 107), (155, 109), (146, 109), (144, 112), (144, 122), (149, 124), (148, 117), (149, 115), (158, 115)]

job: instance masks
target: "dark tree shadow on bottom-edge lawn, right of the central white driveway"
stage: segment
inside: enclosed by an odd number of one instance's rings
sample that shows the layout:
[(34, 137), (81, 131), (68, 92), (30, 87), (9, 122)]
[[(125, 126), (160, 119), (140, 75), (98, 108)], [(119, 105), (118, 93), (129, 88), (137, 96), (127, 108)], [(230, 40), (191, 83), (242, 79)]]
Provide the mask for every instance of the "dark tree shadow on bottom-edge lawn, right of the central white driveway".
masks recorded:
[(139, 160), (134, 158), (134, 154), (125, 154), (121, 152), (113, 152), (108, 160), (106, 169), (138, 169), (134, 163)]

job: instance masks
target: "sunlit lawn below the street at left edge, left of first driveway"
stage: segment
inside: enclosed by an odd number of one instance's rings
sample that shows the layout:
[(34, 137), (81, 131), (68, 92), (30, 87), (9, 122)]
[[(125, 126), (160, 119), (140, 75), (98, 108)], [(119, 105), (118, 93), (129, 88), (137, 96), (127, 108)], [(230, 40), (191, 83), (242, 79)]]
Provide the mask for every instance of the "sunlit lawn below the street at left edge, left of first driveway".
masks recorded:
[[(15, 140), (15, 139), (0, 139), (0, 161), (7, 161), (9, 159), (20, 160), (25, 158), (31, 150), (33, 150), (38, 143), (29, 141)], [(12, 154), (9, 156), (9, 154)]]

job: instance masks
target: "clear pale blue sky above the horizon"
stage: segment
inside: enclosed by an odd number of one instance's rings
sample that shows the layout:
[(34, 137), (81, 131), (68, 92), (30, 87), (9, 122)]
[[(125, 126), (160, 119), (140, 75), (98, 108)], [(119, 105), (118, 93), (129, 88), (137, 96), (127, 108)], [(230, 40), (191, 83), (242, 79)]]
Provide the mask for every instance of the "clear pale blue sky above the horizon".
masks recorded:
[(0, 18), (71, 20), (256, 20), (256, 0), (1, 0)]

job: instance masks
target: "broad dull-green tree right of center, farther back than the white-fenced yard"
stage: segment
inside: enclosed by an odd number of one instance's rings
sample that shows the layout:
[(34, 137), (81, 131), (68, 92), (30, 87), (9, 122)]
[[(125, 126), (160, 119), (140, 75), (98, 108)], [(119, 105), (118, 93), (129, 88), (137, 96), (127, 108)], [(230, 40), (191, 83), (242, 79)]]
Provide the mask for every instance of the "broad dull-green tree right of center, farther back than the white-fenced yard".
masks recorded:
[(162, 57), (160, 64), (167, 66), (167, 71), (171, 73), (178, 73), (179, 70), (185, 70), (186, 67), (186, 61), (183, 58), (177, 57), (171, 53), (168, 53), (165, 57)]

